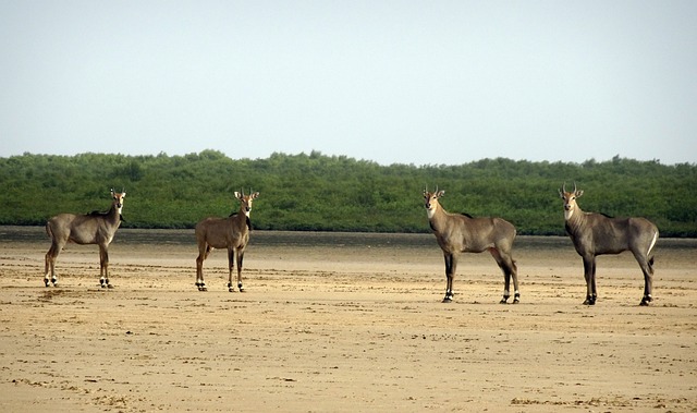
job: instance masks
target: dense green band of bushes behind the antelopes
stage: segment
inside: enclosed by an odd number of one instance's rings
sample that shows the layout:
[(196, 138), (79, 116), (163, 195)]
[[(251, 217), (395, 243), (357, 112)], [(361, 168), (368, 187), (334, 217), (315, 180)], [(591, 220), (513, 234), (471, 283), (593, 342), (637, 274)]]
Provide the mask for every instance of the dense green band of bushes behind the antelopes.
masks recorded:
[(587, 211), (644, 216), (663, 236), (697, 236), (695, 165), (615, 157), (384, 167), (317, 151), (255, 160), (216, 150), (0, 158), (0, 224), (44, 224), (58, 212), (106, 210), (113, 186), (127, 192), (124, 227), (192, 228), (203, 217), (236, 210), (232, 193), (253, 189), (260, 192), (252, 215), (256, 229), (426, 232), (421, 192), (438, 185), (451, 212), (501, 216), (521, 234), (561, 235), (557, 190), (564, 181), (585, 191), (579, 205)]

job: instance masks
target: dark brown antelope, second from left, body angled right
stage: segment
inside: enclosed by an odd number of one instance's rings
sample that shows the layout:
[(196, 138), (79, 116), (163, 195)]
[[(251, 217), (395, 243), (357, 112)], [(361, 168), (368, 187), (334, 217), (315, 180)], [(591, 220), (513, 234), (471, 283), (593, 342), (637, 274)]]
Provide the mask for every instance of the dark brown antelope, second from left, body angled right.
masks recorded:
[(207, 291), (204, 282), (204, 262), (208, 258), (213, 248), (228, 248), (228, 264), (230, 276), (228, 278), (228, 291), (233, 292), (232, 270), (234, 268), (235, 254), (237, 256), (237, 288), (242, 287), (242, 260), (244, 250), (249, 241), (252, 223), (249, 214), (252, 212), (252, 202), (259, 196), (258, 192), (245, 195), (235, 192), (235, 198), (240, 199), (240, 211), (232, 214), (228, 218), (209, 217), (196, 224), (196, 242), (198, 243), (198, 257), (196, 258), (196, 287), (198, 291)]

